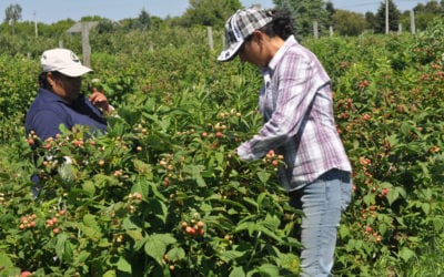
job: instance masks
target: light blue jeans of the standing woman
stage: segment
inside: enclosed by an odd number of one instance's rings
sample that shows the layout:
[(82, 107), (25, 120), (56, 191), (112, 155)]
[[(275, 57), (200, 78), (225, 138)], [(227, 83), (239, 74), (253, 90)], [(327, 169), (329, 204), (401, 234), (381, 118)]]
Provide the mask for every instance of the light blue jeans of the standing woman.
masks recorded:
[(350, 173), (331, 170), (313, 183), (290, 193), (291, 204), (302, 208), (301, 276), (331, 276), (337, 227), (352, 194)]

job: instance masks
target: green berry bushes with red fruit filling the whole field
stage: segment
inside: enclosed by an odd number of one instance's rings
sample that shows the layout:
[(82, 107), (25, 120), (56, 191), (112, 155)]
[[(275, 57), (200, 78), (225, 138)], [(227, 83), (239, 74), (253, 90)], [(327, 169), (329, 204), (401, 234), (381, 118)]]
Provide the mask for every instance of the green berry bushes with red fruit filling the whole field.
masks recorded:
[[(332, 78), (354, 170), (335, 275), (444, 270), (443, 25), (434, 21), (415, 37), (304, 41)], [(242, 163), (233, 154), (262, 124), (261, 76), (238, 60), (218, 63), (205, 37), (202, 28), (91, 33), (94, 73), (84, 92), (102, 89), (119, 116), (109, 117), (105, 135), (62, 129), (34, 152), (29, 138), (39, 138), (26, 137), (22, 124), (41, 45), (23, 45), (36, 53), (29, 57), (6, 50), (0, 275), (299, 274), (301, 214), (276, 179), (280, 158)], [(80, 48), (75, 38), (67, 42)], [(44, 183), (37, 199), (31, 174)]]

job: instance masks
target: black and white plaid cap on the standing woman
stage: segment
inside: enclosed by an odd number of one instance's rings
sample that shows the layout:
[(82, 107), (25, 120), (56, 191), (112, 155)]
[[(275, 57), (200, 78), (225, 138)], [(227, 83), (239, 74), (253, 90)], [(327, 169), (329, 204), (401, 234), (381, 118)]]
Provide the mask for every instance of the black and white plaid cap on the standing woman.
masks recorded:
[(238, 53), (245, 38), (273, 20), (271, 12), (259, 9), (238, 10), (225, 23), (228, 48), (222, 51), (218, 61), (231, 61)]

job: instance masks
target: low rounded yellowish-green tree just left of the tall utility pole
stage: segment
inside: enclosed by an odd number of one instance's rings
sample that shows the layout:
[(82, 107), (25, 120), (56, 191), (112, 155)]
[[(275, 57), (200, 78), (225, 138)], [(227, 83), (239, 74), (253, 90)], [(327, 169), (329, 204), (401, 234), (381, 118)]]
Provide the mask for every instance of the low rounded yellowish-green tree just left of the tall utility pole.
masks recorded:
[(332, 23), (335, 32), (341, 35), (359, 35), (366, 25), (362, 13), (345, 10), (336, 10), (332, 16)]

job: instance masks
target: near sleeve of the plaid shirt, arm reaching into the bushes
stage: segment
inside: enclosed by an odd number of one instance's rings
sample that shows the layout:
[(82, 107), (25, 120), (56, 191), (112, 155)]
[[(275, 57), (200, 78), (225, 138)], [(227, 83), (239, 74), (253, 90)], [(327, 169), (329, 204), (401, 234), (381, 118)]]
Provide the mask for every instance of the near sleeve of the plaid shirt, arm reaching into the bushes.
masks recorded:
[(307, 58), (297, 53), (287, 54), (278, 72), (273, 73), (275, 80), (270, 85), (265, 84), (260, 105), (266, 123), (259, 134), (238, 148), (241, 158), (261, 158), (300, 131), (317, 89), (330, 83), (325, 76), (316, 76), (321, 69)]

